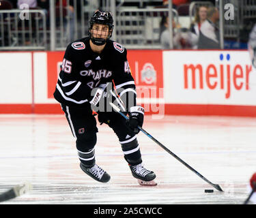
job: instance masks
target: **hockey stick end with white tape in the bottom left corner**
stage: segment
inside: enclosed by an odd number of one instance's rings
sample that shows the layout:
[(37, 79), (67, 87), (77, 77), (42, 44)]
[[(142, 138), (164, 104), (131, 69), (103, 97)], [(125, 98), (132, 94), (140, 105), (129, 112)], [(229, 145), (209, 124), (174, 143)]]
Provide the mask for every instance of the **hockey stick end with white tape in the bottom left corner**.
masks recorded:
[(4, 202), (6, 200), (11, 200), (18, 196), (21, 196), (31, 191), (31, 189), (32, 189), (32, 185), (28, 182), (25, 182), (20, 185), (16, 185), (12, 189), (0, 194), (0, 202)]

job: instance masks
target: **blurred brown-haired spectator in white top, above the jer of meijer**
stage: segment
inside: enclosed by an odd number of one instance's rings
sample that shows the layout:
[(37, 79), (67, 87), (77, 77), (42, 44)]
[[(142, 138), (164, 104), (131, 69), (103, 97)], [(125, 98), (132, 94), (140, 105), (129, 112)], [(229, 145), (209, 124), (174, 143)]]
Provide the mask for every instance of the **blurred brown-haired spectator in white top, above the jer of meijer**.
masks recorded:
[(220, 46), (220, 33), (216, 26), (219, 20), (218, 9), (216, 7), (209, 7), (208, 18), (203, 22), (199, 34), (199, 49), (218, 49)]

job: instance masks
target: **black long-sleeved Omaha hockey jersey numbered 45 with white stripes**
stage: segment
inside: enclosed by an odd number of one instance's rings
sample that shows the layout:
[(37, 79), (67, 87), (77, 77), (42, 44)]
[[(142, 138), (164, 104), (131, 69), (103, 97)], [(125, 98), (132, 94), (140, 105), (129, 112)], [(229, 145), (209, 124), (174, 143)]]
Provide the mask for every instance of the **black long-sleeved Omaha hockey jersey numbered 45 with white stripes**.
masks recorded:
[(111, 40), (106, 41), (100, 54), (91, 50), (89, 37), (70, 43), (63, 57), (55, 99), (68, 106), (85, 106), (89, 104), (92, 89), (114, 82), (124, 102), (124, 96), (132, 93), (136, 104), (137, 93), (126, 56), (126, 48)]

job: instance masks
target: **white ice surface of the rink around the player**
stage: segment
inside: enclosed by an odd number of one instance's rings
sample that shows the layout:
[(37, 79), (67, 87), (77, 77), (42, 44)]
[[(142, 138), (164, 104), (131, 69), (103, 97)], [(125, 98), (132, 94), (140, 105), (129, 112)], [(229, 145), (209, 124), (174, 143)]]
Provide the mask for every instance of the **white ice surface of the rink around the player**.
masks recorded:
[[(0, 115), (0, 193), (22, 181), (33, 190), (1, 204), (243, 204), (256, 171), (256, 119), (225, 116), (146, 116), (144, 129), (217, 191), (140, 133), (145, 167), (156, 187), (132, 177), (112, 129), (98, 125), (96, 162), (111, 174), (98, 183), (79, 168), (75, 140), (64, 115)], [(214, 189), (214, 193), (204, 193)]]

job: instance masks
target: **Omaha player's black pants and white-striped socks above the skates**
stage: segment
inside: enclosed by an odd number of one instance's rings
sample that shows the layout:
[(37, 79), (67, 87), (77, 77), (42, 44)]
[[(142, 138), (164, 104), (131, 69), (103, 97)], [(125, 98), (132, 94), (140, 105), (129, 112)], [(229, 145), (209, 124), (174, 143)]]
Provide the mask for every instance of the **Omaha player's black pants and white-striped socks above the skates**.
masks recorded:
[[(91, 108), (89, 106), (88, 108), (77, 108), (64, 104), (61, 104), (61, 108), (65, 112), (72, 134), (76, 138), (76, 149), (80, 161), (85, 166), (94, 166), (94, 146), (97, 142), (96, 133), (98, 132), (98, 128)], [(122, 146), (124, 159), (130, 165), (134, 166), (142, 162), (136, 135), (126, 126), (126, 119), (117, 112), (98, 112), (98, 121), (100, 123), (106, 123), (113, 129)], [(111, 155), (111, 152), (109, 155)]]

